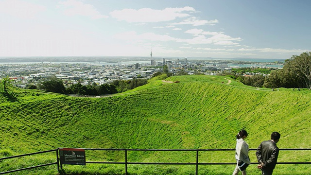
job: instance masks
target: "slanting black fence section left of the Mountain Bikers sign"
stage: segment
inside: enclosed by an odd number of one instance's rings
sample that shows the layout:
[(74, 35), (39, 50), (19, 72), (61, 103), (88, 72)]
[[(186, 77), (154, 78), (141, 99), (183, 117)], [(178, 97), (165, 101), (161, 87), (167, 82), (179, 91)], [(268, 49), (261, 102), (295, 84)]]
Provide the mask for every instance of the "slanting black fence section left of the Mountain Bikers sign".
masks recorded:
[(49, 152), (53, 152), (53, 151), (56, 152), (56, 162), (47, 163), (47, 164), (42, 164), (42, 165), (36, 165), (36, 166), (32, 166), (32, 167), (27, 167), (27, 168), (20, 168), (20, 169), (11, 170), (11, 171), (6, 171), (6, 172), (0, 172), (0, 175), (7, 174), (7, 173), (14, 173), (14, 172), (17, 172), (17, 171), (29, 170), (29, 169), (33, 169), (33, 168), (39, 168), (39, 167), (49, 166), (49, 165), (55, 165), (55, 164), (57, 164), (57, 167), (58, 167), (58, 169), (59, 169), (59, 164), (58, 164), (58, 149), (47, 150), (47, 151), (40, 151), (40, 152), (29, 153), (29, 154), (23, 154), (23, 155), (18, 155), (18, 156), (2, 157), (2, 158), (0, 158), (0, 161), (1, 161), (1, 160), (5, 160), (5, 159), (10, 159), (10, 158), (25, 157), (25, 156), (31, 156), (31, 155), (36, 155), (36, 154), (49, 153)]

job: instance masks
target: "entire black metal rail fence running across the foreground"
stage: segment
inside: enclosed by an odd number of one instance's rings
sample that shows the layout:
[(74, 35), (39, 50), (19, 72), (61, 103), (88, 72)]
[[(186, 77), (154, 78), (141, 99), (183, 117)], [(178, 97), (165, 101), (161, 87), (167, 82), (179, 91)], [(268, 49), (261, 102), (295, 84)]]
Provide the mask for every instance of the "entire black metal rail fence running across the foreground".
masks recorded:
[[(40, 151), (35, 153), (23, 154), (18, 156), (11, 156), (11, 157), (2, 157), (1, 160), (10, 159), (10, 158), (17, 158), (17, 157), (24, 157), (36, 154), (43, 154), (48, 152), (56, 152), (56, 162), (42, 164), (37, 166), (32, 166), (28, 168), (22, 168), (17, 170), (11, 170), (7, 172), (0, 172), (0, 175), (13, 173), (17, 171), (23, 171), (43, 166), (55, 165), (57, 164), (57, 170), (60, 172), (62, 169), (62, 164), (60, 163), (59, 157), (59, 149), (47, 150), (47, 151)], [(195, 165), (195, 175), (198, 175), (198, 166), (199, 165), (236, 165), (236, 162), (199, 162), (199, 152), (202, 151), (235, 151), (235, 149), (125, 149), (125, 148), (68, 148), (68, 149), (83, 149), (83, 150), (90, 150), (90, 151), (124, 151), (124, 162), (99, 162), (99, 161), (86, 161), (86, 163), (97, 163), (97, 164), (124, 164), (125, 165), (125, 175), (128, 175), (127, 172), (127, 165), (129, 164), (136, 164), (136, 165)], [(250, 149), (250, 151), (256, 151), (257, 149)], [(280, 151), (311, 151), (311, 148), (280, 148)], [(193, 151), (196, 152), (196, 161), (190, 163), (181, 163), (181, 162), (128, 162), (127, 153), (128, 151)], [(258, 164), (258, 162), (251, 162), (251, 164)], [(311, 162), (277, 162), (277, 164), (311, 164)]]

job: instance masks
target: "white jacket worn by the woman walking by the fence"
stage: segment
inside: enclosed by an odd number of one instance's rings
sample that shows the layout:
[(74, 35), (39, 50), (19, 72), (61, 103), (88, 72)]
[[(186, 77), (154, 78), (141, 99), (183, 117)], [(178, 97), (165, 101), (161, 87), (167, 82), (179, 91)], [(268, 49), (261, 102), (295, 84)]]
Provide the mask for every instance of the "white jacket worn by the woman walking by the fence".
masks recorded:
[(242, 160), (244, 163), (250, 164), (251, 161), (248, 157), (249, 147), (248, 144), (242, 139), (237, 139), (237, 146), (235, 148), (235, 158)]

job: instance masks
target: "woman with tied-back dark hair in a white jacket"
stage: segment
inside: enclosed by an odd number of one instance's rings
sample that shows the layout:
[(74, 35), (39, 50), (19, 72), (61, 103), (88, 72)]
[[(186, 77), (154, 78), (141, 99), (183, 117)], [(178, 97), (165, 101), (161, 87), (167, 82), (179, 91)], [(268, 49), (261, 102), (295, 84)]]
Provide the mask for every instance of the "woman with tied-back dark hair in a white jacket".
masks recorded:
[(244, 141), (247, 137), (247, 132), (242, 129), (237, 135), (237, 146), (235, 148), (235, 158), (237, 159), (237, 166), (232, 175), (238, 175), (242, 172), (242, 175), (246, 175), (246, 167), (251, 163), (248, 157), (249, 147)]

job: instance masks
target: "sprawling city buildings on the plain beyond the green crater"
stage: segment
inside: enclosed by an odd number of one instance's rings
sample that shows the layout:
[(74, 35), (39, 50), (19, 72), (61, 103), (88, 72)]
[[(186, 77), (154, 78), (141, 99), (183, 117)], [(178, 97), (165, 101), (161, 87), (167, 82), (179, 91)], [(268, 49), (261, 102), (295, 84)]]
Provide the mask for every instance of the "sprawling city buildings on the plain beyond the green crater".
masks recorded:
[(55, 76), (63, 80), (65, 86), (81, 83), (89, 85), (96, 83), (102, 85), (114, 80), (129, 80), (132, 78), (150, 78), (155, 72), (163, 71), (163, 65), (168, 66), (172, 73), (185, 70), (188, 74), (199, 71), (205, 74), (215, 75), (220, 71), (230, 71), (227, 64), (206, 63), (204, 61), (192, 61), (187, 59), (179, 62), (165, 61), (135, 64), (107, 64), (94, 63), (29, 63), (29, 64), (2, 64), (0, 65), (0, 77), (10, 77), (13, 84), (20, 88), (26, 85), (36, 85), (40, 79)]

